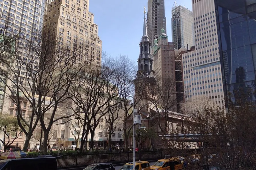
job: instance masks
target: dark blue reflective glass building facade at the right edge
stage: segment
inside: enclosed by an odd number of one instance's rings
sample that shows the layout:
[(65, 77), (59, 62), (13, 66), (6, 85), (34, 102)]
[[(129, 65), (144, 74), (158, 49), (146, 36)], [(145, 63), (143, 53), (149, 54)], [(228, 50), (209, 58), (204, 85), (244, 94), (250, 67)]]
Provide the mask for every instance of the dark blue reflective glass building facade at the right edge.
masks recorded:
[(255, 90), (256, 1), (215, 0), (215, 9), (224, 94), (235, 100), (241, 89)]

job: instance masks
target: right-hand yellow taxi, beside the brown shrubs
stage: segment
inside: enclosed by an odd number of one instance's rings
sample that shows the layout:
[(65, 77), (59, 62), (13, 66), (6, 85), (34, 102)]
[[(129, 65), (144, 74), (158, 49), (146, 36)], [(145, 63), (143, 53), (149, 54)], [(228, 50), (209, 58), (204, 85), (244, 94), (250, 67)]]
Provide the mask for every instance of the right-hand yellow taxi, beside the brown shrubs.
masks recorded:
[(158, 160), (150, 168), (152, 170), (180, 170), (183, 169), (182, 157), (170, 157), (166, 155), (164, 159)]

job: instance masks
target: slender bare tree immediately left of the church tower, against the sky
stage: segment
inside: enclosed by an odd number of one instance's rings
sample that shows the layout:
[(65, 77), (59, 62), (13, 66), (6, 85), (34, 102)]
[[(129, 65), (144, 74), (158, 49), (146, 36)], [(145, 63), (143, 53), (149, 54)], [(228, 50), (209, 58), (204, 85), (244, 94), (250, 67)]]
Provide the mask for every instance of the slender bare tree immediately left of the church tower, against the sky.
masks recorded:
[[(132, 131), (132, 124), (129, 124), (129, 119), (133, 113), (133, 106), (140, 110), (143, 106), (142, 96), (144, 93), (144, 87), (146, 84), (142, 76), (137, 76), (137, 65), (125, 55), (119, 55), (115, 59), (115, 78), (119, 81), (118, 91), (119, 97), (122, 98), (122, 107), (124, 111), (124, 123), (123, 123), (123, 137), (125, 150), (128, 150), (128, 139)], [(140, 73), (139, 73), (140, 74)], [(137, 86), (137, 88), (136, 88)], [(135, 90), (136, 96), (135, 95)], [(134, 98), (130, 97), (134, 96)]]

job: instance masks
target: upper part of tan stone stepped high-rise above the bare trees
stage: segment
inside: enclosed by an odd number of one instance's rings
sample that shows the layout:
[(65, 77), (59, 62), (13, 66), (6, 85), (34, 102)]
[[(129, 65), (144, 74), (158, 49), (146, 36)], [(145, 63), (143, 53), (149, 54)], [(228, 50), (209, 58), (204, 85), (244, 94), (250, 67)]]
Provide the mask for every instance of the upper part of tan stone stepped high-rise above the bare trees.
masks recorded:
[[(101, 64), (101, 44), (98, 36), (98, 25), (94, 23), (94, 15), (89, 12), (89, 0), (53, 1), (48, 4), (44, 19), (44, 27), (55, 31), (59, 44), (68, 48), (87, 47), (90, 55), (85, 60), (94, 60)], [(47, 29), (47, 28), (46, 28)]]

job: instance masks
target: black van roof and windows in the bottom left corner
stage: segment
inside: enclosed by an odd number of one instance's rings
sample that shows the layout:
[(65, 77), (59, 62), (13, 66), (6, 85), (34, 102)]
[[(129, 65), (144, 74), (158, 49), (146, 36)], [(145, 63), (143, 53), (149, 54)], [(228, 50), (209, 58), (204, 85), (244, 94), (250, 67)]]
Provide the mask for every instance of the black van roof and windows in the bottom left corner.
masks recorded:
[(57, 170), (55, 157), (21, 158), (0, 161), (0, 170)]

